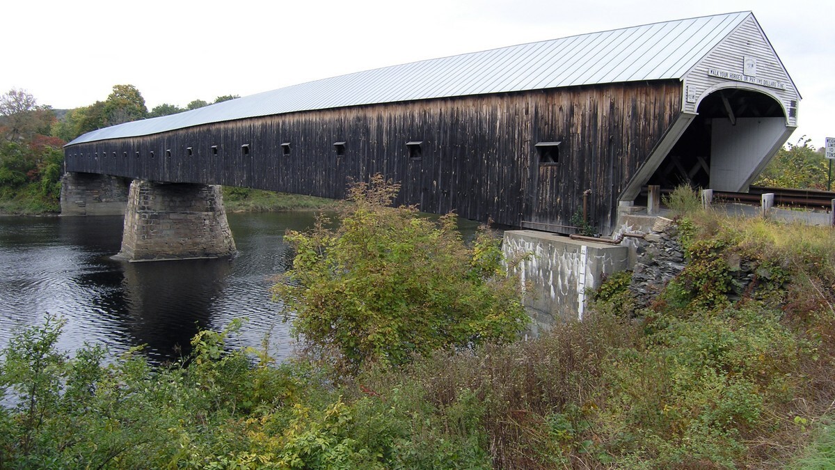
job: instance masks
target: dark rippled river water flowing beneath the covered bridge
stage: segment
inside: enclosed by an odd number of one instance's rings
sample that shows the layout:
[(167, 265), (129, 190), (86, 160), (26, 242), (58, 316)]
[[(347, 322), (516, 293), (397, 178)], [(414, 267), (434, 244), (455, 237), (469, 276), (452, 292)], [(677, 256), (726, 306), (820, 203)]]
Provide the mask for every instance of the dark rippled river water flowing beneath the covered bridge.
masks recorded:
[[(85, 341), (108, 345), (113, 355), (136, 345), (156, 362), (187, 351), (199, 330), (247, 318), (232, 345), (291, 354), (289, 324), (271, 301), (271, 278), (292, 263), (287, 229), (305, 230), (312, 212), (230, 214), (239, 253), (234, 258), (124, 263), (119, 251), (122, 217), (0, 217), (0, 348), (15, 328), (45, 314), (67, 320), (59, 347)], [(462, 221), (472, 233), (474, 222)]]

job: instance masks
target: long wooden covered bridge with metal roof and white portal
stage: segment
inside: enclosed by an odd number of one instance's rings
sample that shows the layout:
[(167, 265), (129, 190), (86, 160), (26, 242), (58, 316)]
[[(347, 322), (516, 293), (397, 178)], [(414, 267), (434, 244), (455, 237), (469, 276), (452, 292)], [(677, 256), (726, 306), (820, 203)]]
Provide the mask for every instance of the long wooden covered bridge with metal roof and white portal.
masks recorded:
[(95, 175), (146, 193), (177, 186), (164, 182), (342, 198), (382, 173), (424, 212), (549, 232), (575, 231), (586, 193), (608, 234), (647, 184), (746, 191), (796, 128), (799, 100), (751, 12), (654, 23), (95, 130), (65, 148), (63, 208), (90, 212), (85, 185), (107, 192)]

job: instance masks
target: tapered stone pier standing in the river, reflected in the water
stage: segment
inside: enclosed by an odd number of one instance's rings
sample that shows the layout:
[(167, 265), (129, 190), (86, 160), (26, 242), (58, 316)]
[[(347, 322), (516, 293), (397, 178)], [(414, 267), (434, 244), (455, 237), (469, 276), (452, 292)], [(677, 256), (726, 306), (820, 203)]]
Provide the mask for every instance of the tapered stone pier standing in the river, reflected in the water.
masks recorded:
[(220, 258), (235, 253), (235, 240), (220, 186), (130, 183), (122, 249), (114, 258), (152, 261)]

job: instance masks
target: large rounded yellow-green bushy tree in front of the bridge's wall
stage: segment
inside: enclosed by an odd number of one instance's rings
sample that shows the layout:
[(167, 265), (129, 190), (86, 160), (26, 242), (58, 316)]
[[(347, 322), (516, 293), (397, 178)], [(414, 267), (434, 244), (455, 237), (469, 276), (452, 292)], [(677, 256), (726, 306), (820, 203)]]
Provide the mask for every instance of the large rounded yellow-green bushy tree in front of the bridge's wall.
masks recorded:
[(287, 317), (295, 312), (296, 334), (355, 370), (514, 339), (527, 316), (498, 240), (482, 232), (468, 248), (453, 214), (432, 222), (415, 207), (387, 207), (397, 189), (374, 176), (351, 187), (338, 228), (320, 219), (287, 233), (296, 258), (274, 293)]

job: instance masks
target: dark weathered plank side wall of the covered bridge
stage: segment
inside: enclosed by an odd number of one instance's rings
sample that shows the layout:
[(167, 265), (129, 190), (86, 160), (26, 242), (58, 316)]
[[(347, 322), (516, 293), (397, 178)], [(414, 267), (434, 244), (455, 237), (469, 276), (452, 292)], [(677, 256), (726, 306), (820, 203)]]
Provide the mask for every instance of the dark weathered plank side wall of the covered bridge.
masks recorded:
[[(573, 232), (562, 226), (590, 189), (590, 222), (609, 232), (625, 182), (680, 108), (678, 81), (607, 84), (271, 115), (65, 153), (67, 171), (331, 198), (379, 172), (402, 182), (398, 202), (424, 212), (553, 232)], [(409, 157), (410, 140), (423, 141), (420, 159)], [(555, 140), (559, 162), (539, 166), (534, 145)]]

